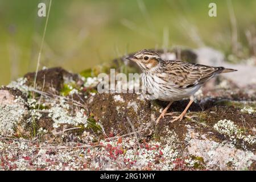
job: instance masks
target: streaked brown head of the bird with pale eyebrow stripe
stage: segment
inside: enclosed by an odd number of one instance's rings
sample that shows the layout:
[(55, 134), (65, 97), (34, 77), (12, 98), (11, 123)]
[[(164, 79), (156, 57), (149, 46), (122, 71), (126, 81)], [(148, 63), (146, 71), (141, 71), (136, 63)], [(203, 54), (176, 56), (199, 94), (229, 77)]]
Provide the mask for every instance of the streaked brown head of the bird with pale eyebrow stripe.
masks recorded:
[(147, 72), (155, 69), (161, 58), (157, 52), (143, 49), (133, 56), (126, 57), (126, 59), (134, 61), (141, 67), (143, 72)]

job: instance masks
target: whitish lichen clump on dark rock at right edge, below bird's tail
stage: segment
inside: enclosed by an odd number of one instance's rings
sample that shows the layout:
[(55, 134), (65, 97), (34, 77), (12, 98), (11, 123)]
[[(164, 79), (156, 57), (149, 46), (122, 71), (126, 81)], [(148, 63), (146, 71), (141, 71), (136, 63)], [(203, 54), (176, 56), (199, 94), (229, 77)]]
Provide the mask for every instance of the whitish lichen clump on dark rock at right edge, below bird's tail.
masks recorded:
[(234, 143), (236, 143), (237, 138), (242, 139), (249, 144), (256, 144), (256, 137), (251, 135), (243, 135), (243, 131), (239, 129), (233, 121), (227, 119), (220, 120), (213, 126), (213, 128), (218, 131), (218, 133), (230, 137), (230, 139), (232, 139)]

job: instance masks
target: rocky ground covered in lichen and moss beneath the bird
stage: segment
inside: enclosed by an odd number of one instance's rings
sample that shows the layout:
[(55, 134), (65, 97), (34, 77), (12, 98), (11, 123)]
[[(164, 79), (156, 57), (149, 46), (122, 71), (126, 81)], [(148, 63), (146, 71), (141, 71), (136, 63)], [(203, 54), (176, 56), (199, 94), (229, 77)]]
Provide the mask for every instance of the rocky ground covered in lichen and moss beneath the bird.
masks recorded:
[[(204, 60), (197, 51), (180, 57)], [(122, 58), (111, 67), (138, 72)], [(197, 92), (188, 112), (192, 119), (169, 123), (166, 116), (155, 125), (168, 102), (139, 93), (97, 93), (96, 76), (109, 68), (80, 74), (46, 68), (38, 72), (35, 89), (35, 73), (2, 86), (0, 169), (256, 169), (256, 84), (251, 80), (241, 85), (237, 79), (243, 76), (220, 76)], [(187, 103), (174, 102), (169, 111), (178, 115)]]

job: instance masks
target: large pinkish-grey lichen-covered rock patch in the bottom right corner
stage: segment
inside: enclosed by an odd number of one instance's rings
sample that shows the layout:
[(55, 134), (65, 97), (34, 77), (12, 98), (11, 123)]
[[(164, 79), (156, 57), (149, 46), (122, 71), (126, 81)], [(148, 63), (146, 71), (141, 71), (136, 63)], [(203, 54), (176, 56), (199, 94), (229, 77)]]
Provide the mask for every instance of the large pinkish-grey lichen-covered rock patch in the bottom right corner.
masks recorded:
[(241, 170), (250, 167), (256, 155), (247, 150), (237, 149), (229, 142), (218, 143), (213, 140), (199, 139), (201, 135), (195, 133), (192, 127), (188, 127), (186, 140), (188, 142), (189, 155), (200, 156), (208, 168), (220, 168), (221, 170)]

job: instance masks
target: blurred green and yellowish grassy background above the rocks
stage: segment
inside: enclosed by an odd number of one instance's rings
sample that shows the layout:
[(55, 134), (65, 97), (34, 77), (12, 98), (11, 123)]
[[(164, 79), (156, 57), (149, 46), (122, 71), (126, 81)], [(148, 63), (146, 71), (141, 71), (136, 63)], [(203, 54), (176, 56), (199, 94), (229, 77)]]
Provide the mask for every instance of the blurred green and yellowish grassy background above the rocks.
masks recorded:
[[(0, 85), (36, 69), (46, 22), (37, 15), (40, 2), (48, 10), (49, 0), (0, 0)], [(217, 17), (208, 15), (210, 2)], [(232, 11), (243, 56), (249, 56), (245, 32), (255, 30), (254, 0), (53, 0), (40, 68), (80, 72), (127, 52), (175, 45), (212, 46), (229, 55)]]

